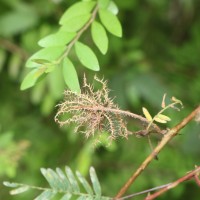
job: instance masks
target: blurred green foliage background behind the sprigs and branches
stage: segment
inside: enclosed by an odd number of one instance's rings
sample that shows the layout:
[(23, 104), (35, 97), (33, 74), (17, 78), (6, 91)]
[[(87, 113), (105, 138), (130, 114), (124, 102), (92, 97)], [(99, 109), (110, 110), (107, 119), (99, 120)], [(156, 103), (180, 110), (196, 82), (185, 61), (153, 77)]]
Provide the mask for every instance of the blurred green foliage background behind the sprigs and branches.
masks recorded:
[[(1, 0), (0, 2), (0, 182), (5, 180), (47, 186), (40, 168), (97, 171), (105, 195), (114, 196), (132, 172), (150, 153), (146, 138), (118, 139), (109, 148), (94, 149), (92, 141), (59, 128), (54, 122), (55, 105), (64, 85), (59, 76), (48, 77), (35, 87), (20, 91), (27, 73), (26, 59), (39, 49), (37, 41), (58, 28), (63, 12), (76, 1)], [(89, 31), (82, 39), (99, 58), (99, 77), (109, 80), (111, 95), (119, 107), (142, 114), (160, 109), (164, 93), (182, 100), (184, 109), (167, 114), (168, 127), (192, 111), (200, 102), (200, 3), (198, 0), (115, 0), (123, 26), (123, 38), (109, 35), (109, 51), (102, 56)], [(72, 55), (73, 56), (73, 55)], [(74, 61), (76, 62), (76, 60)], [(77, 62), (80, 80), (94, 72)], [(135, 124), (133, 123), (133, 128)], [(154, 146), (160, 137), (153, 137)], [(166, 184), (185, 175), (200, 163), (200, 132), (191, 122), (173, 139), (136, 180), (129, 193)], [(0, 199), (27, 200), (31, 191), (9, 195), (0, 184)], [(194, 181), (187, 181), (159, 199), (199, 199)], [(138, 196), (135, 199), (143, 199)]]

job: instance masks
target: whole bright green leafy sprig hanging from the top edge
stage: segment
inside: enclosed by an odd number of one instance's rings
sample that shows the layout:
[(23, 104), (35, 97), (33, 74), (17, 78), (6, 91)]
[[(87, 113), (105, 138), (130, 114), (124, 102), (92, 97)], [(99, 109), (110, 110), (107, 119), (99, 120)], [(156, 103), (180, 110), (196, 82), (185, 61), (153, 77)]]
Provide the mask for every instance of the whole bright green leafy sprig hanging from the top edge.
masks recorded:
[[(99, 71), (96, 55), (79, 39), (91, 26), (94, 44), (102, 54), (106, 54), (108, 50), (106, 30), (117, 37), (122, 36), (122, 27), (116, 16), (117, 13), (116, 4), (110, 0), (81, 1), (69, 7), (59, 21), (59, 30), (42, 38), (38, 42), (42, 49), (27, 60), (26, 67), (31, 68), (31, 71), (24, 78), (21, 90), (34, 86), (45, 75), (54, 73), (59, 68), (63, 81), (69, 89), (80, 92), (78, 75), (73, 62), (68, 58), (69, 53), (74, 47), (76, 56), (83, 66)], [(97, 14), (99, 21), (96, 19)]]

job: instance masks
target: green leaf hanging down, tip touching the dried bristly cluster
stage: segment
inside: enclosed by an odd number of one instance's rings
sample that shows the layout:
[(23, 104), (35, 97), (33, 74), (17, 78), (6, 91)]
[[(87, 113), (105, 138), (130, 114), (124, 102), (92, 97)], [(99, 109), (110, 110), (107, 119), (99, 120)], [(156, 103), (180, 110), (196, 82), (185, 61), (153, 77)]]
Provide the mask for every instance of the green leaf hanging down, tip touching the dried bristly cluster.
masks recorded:
[(70, 90), (78, 93), (81, 91), (77, 72), (73, 63), (68, 58), (63, 60), (63, 76)]

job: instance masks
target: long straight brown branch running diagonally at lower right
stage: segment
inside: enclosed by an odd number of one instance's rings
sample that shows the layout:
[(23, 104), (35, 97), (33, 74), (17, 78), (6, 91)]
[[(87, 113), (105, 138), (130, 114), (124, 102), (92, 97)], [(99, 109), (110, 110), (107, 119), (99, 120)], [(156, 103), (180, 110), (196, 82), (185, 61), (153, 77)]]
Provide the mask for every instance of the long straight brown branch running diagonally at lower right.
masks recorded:
[(191, 112), (186, 118), (184, 118), (179, 124), (169, 130), (162, 138), (160, 143), (154, 148), (152, 153), (144, 160), (139, 168), (133, 173), (131, 178), (125, 183), (114, 199), (122, 197), (122, 195), (128, 190), (136, 178), (144, 171), (144, 169), (150, 164), (156, 155), (163, 149), (163, 147), (174, 137), (179, 131), (185, 127), (197, 114), (200, 113), (200, 106), (198, 106), (193, 112)]

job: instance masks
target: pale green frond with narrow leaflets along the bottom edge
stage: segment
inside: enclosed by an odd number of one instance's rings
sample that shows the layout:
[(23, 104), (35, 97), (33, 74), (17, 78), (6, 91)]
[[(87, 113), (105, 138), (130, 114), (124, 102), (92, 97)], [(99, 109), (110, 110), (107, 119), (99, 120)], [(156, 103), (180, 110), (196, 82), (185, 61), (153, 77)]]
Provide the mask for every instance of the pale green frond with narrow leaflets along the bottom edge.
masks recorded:
[[(76, 171), (76, 175), (73, 171), (66, 166), (65, 172), (60, 168), (55, 171), (52, 169), (41, 168), (41, 173), (46, 178), (50, 185), (50, 188), (41, 188), (36, 186), (25, 185), (21, 183), (10, 183), (4, 182), (3, 184), (7, 187), (15, 188), (10, 191), (11, 195), (23, 193), (29, 189), (41, 190), (42, 193), (37, 196), (34, 200), (51, 200), (57, 194), (62, 197), (60, 200), (69, 200), (77, 197), (78, 200), (109, 200), (109, 197), (103, 197), (101, 193), (101, 186), (97, 178), (95, 169), (90, 167), (90, 179), (92, 186), (88, 181), (81, 175), (80, 172)], [(83, 188), (85, 193), (81, 191)]]

